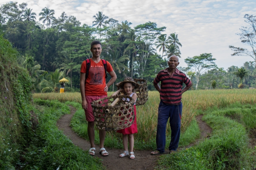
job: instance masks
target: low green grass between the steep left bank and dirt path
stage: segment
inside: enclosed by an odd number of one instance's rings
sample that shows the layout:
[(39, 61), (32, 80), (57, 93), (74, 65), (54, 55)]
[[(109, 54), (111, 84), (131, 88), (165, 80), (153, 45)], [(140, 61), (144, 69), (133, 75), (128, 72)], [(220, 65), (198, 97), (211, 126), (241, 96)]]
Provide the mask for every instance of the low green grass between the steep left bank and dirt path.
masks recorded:
[(104, 169), (99, 158), (75, 146), (56, 126), (69, 107), (59, 101), (36, 99), (39, 125), (28, 148), (23, 151), (22, 169)]

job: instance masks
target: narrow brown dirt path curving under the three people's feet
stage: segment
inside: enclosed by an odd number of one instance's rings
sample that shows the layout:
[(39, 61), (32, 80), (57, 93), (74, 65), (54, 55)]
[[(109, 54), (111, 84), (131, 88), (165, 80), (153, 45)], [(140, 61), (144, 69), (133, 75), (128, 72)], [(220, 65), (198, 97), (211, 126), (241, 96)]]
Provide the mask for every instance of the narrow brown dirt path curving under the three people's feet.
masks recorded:
[[(73, 144), (82, 148), (83, 150), (88, 151), (90, 149), (90, 143), (85, 139), (83, 139), (82, 137), (79, 137), (78, 135), (76, 135), (76, 133), (73, 132), (73, 130), (69, 126), (71, 118), (75, 114), (75, 112), (76, 112), (76, 108), (70, 106), (70, 114), (62, 116), (58, 120), (57, 126), (60, 130), (63, 131), (64, 135), (69, 137), (69, 139), (73, 142)], [(205, 129), (206, 123), (204, 123), (201, 120), (201, 118), (199, 120), (199, 127), (200, 129), (201, 128)], [(210, 132), (206, 132), (205, 134), (208, 134), (208, 133)], [(119, 170), (119, 169), (120, 170), (121, 169), (151, 170), (151, 169), (154, 169), (154, 167), (156, 166), (156, 161), (160, 156), (160, 155), (150, 155), (151, 151), (134, 151), (135, 159), (131, 160), (129, 159), (129, 157), (124, 157), (124, 158), (118, 157), (119, 154), (123, 152), (123, 150), (121, 149), (106, 148), (106, 150), (109, 153), (109, 155), (106, 157), (101, 156), (101, 154), (99, 153), (99, 150), (100, 150), (99, 146), (96, 146), (95, 156), (102, 159), (102, 164), (106, 166), (107, 169), (109, 170)]]

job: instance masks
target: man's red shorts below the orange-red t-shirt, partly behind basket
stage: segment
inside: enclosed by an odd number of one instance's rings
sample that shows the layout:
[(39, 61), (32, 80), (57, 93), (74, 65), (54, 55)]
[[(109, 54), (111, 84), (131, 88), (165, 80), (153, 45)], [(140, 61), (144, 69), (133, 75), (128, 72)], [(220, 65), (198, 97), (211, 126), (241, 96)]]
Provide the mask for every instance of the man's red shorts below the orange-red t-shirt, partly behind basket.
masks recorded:
[(107, 95), (103, 96), (85, 96), (85, 100), (87, 102), (87, 109), (84, 109), (86, 121), (93, 122), (94, 121), (94, 115), (92, 112), (92, 101), (102, 99), (104, 97), (108, 97)]

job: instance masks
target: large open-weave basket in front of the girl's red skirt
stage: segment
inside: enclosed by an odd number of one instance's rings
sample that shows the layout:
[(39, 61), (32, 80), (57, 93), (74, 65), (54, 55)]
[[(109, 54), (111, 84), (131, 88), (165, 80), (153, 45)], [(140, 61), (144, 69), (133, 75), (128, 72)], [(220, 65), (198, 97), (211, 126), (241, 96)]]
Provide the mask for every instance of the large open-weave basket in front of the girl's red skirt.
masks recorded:
[[(115, 106), (110, 105), (116, 98), (120, 100)], [(125, 100), (122, 100), (125, 99)], [(130, 99), (128, 101), (127, 99)], [(92, 101), (92, 111), (95, 124), (100, 130), (120, 130), (128, 128), (134, 121), (134, 100), (130, 96), (110, 96), (103, 99)], [(105, 110), (109, 109), (109, 113)]]

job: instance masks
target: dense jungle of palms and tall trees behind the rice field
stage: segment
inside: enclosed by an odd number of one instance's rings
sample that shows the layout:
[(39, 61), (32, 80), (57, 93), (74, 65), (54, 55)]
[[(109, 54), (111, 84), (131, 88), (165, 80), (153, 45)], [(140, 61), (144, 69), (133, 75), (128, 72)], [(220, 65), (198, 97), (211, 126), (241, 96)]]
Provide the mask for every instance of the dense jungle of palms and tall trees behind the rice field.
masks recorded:
[[(120, 23), (99, 11), (90, 26), (91, 23), (81, 25), (75, 16), (67, 16), (65, 12), (59, 17), (54, 14), (53, 9), (45, 7), (38, 16), (26, 3), (10, 2), (0, 7), (3, 36), (19, 51), (17, 61), (36, 82), (35, 92), (58, 92), (58, 80), (63, 77), (70, 80), (66, 91), (79, 91), (80, 66), (92, 57), (93, 40), (102, 42), (101, 58), (112, 64), (116, 82), (126, 76), (144, 78), (148, 80), (149, 90), (154, 90), (152, 81), (158, 71), (168, 67), (169, 56), (185, 57), (181, 55), (178, 35), (164, 34), (165, 27), (158, 27), (154, 22), (132, 28), (131, 22)], [(157, 50), (162, 55), (158, 55)], [(256, 87), (255, 62), (244, 63), (247, 74), (241, 80), (234, 74), (238, 67), (218, 68), (213, 57), (210, 51), (188, 57), (185, 62), (189, 67), (179, 68), (194, 82), (192, 89), (212, 89), (214, 80), (214, 88)], [(113, 86), (110, 90), (114, 90)]]

